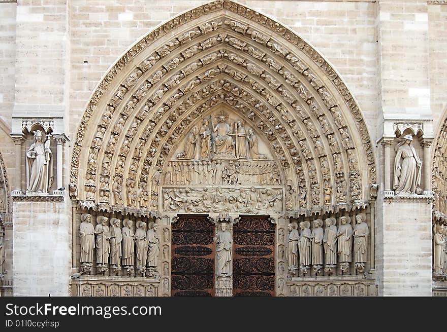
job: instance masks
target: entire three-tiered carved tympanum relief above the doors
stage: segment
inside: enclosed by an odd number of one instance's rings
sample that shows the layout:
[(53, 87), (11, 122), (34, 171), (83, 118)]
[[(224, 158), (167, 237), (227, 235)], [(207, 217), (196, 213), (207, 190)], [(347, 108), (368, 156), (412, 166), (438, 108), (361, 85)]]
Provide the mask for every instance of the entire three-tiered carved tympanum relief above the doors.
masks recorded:
[(280, 213), (280, 167), (259, 128), (229, 112), (194, 124), (163, 172), (163, 209), (186, 213)]

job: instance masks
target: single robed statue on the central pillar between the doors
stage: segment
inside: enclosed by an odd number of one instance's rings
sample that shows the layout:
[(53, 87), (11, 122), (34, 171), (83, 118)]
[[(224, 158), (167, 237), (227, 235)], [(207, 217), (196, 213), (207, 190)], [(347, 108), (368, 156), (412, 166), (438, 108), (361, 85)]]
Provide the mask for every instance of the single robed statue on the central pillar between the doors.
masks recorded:
[(216, 230), (214, 242), (216, 243), (216, 275), (218, 277), (231, 276), (231, 251), (233, 239), (227, 223), (220, 224), (220, 231)]

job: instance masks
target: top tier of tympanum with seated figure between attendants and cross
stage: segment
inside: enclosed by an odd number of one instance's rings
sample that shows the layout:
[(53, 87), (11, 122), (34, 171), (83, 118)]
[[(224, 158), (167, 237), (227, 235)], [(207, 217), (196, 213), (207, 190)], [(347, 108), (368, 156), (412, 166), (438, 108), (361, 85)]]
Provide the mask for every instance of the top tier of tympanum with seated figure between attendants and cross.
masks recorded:
[(259, 135), (237, 115), (220, 110), (186, 134), (174, 156), (190, 160), (272, 160)]

